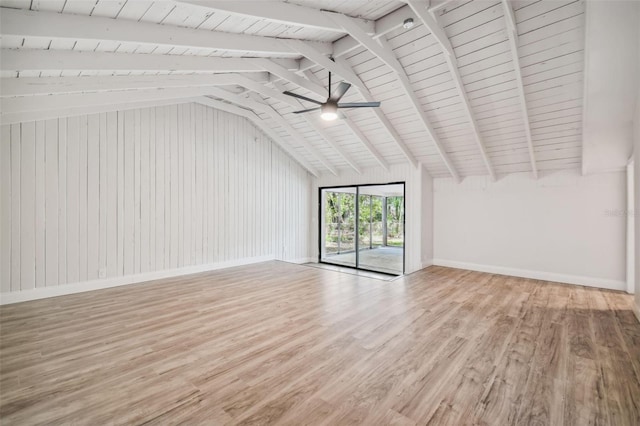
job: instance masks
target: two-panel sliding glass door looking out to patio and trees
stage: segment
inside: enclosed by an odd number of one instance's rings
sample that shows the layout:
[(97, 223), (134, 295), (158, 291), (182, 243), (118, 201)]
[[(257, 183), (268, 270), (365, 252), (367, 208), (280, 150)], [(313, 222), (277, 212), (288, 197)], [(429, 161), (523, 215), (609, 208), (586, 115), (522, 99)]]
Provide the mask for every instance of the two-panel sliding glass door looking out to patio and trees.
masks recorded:
[(401, 275), (404, 183), (321, 188), (320, 261)]

